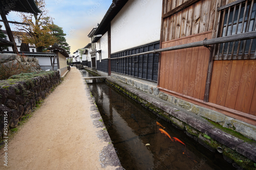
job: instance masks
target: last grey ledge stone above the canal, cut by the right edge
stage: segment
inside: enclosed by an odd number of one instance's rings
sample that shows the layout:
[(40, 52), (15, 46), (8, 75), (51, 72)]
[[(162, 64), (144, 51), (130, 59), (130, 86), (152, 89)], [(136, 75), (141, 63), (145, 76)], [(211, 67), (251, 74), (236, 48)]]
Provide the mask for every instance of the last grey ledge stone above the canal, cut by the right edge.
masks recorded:
[(246, 156), (250, 160), (256, 162), (256, 147), (255, 146), (253, 146), (247, 142), (243, 142), (236, 147), (236, 151), (238, 153)]

